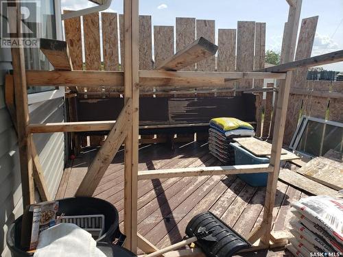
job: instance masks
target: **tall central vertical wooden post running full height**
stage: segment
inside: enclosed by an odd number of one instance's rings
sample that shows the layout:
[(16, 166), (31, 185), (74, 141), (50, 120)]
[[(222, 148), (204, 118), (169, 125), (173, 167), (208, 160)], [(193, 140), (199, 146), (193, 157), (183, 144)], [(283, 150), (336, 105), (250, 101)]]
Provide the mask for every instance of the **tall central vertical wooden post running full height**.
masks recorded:
[(132, 127), (125, 143), (124, 233), (126, 248), (137, 252), (137, 175), (139, 140), (139, 0), (124, 1), (125, 101), (132, 98)]

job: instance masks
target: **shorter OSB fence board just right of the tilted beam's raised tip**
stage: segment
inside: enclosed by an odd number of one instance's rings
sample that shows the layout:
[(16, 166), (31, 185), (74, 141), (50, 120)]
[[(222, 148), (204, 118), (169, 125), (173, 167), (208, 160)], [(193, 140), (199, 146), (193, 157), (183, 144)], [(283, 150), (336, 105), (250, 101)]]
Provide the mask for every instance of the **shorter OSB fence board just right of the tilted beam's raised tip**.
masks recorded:
[(236, 29), (218, 29), (217, 71), (235, 71)]

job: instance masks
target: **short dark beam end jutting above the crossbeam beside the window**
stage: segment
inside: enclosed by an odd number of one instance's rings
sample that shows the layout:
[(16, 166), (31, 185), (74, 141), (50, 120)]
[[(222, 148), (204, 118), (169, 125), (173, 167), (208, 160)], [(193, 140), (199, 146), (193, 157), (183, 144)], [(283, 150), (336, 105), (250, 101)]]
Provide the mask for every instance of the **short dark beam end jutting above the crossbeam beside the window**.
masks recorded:
[(67, 42), (40, 38), (40, 51), (56, 70), (71, 71), (73, 69)]

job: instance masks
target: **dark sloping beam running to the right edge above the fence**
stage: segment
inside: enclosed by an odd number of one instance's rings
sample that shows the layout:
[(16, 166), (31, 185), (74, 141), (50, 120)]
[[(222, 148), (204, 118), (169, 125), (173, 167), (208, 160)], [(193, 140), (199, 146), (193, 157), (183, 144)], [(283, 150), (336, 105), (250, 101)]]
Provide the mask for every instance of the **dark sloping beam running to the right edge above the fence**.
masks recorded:
[(269, 68), (261, 69), (257, 72), (272, 72), (272, 73), (284, 73), (286, 71), (294, 71), (299, 68), (309, 68), (313, 66), (319, 66), (324, 64), (331, 64), (335, 62), (343, 61), (343, 50), (334, 51), (331, 53), (325, 53), (321, 56), (314, 56), (311, 58), (306, 58), (302, 60), (296, 60), (294, 62), (287, 62), (285, 64), (280, 64), (272, 66)]

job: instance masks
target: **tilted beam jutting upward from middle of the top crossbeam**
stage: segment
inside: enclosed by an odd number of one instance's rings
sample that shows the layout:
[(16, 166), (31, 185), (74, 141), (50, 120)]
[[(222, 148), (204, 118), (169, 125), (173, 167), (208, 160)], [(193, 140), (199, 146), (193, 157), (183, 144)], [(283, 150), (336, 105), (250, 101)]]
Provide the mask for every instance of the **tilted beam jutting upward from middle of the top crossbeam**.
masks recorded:
[(217, 45), (206, 38), (200, 37), (191, 43), (191, 45), (185, 47), (185, 49), (178, 51), (174, 56), (165, 60), (155, 70), (178, 71), (215, 55), (217, 49)]

